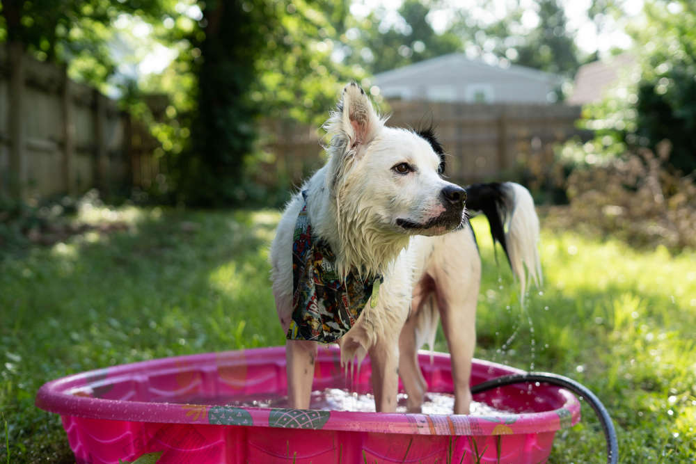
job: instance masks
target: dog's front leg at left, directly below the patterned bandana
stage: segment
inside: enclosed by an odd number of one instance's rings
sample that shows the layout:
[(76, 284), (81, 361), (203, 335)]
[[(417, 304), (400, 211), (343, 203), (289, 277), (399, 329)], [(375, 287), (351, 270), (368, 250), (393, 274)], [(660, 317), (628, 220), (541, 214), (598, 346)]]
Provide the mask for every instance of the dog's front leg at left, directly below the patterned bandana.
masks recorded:
[(314, 362), (317, 358), (317, 342), (287, 340), (287, 401), (290, 408), (308, 409), (312, 396)]

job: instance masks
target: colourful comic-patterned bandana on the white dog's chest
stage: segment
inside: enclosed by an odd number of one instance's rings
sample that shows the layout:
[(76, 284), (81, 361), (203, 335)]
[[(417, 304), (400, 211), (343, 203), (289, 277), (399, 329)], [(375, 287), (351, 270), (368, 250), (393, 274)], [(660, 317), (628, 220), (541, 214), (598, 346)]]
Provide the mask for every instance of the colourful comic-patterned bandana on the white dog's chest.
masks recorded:
[[(287, 339), (336, 342), (358, 320), (381, 277), (362, 279), (352, 269), (339, 278), (336, 257), (324, 239), (312, 236), (305, 204), (297, 216), (292, 242), (292, 321)], [(377, 301), (375, 291), (372, 306)]]

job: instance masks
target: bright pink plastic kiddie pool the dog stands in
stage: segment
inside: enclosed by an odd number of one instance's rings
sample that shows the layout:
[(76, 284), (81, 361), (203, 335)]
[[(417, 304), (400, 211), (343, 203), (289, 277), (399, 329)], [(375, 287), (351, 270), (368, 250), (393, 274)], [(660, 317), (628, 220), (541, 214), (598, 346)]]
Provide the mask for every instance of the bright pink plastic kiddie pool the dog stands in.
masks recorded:
[[(446, 397), (450, 356), (419, 358), (428, 392)], [(520, 372), (475, 360), (471, 383)], [(347, 385), (338, 348), (321, 347), (313, 387), (370, 392), (369, 360)], [(77, 463), (95, 464), (539, 463), (580, 419), (576, 397), (545, 384), (475, 395), (498, 411), (486, 415), (274, 407), (285, 393), (285, 349), (273, 347), (75, 374), (43, 385), (36, 406), (61, 415)]]

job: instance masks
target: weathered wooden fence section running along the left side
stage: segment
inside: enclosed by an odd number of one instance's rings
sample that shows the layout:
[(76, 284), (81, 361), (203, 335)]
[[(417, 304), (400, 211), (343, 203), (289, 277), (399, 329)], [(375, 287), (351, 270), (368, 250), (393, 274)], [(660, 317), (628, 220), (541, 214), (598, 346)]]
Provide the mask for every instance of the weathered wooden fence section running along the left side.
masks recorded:
[(0, 47), (0, 194), (46, 198), (148, 186), (152, 138), (65, 67)]

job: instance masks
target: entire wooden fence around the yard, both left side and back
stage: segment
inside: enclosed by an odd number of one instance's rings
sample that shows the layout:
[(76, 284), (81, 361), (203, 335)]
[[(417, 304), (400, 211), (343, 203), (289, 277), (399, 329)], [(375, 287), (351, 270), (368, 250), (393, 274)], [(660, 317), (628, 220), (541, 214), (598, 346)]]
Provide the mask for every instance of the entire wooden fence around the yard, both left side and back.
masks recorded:
[[(166, 105), (165, 105), (166, 106)], [(392, 101), (388, 125), (436, 125), (450, 154), (447, 173), (467, 184), (510, 179), (520, 164), (553, 162), (553, 143), (579, 134), (580, 107)], [(298, 185), (322, 164), (316, 127), (262, 124), (255, 180)], [(0, 195), (47, 198), (92, 187), (147, 189), (161, 174), (156, 141), (116, 102), (68, 79), (65, 68), (0, 47)]]

